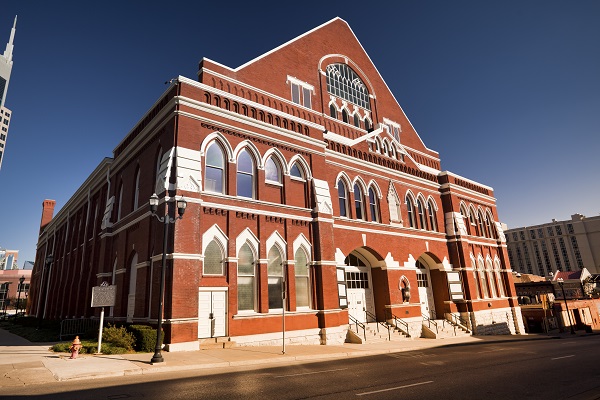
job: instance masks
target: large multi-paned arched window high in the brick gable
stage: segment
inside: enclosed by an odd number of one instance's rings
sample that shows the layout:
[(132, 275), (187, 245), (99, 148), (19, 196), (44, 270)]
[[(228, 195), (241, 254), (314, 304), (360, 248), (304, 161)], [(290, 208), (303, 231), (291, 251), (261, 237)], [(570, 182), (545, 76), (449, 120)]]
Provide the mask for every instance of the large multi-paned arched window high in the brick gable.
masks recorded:
[(371, 109), (367, 87), (347, 64), (327, 66), (327, 91), (359, 107)]

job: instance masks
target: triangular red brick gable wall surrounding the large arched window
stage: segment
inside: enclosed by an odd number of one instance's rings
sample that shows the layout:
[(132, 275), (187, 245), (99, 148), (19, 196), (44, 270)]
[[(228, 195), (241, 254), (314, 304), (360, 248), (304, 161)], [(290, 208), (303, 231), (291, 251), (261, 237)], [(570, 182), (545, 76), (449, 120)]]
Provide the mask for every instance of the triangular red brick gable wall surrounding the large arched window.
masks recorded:
[[(377, 70), (362, 44), (343, 19), (336, 17), (296, 38), (233, 69), (203, 59), (203, 68), (236, 81), (273, 93), (290, 97), (287, 77), (306, 82), (314, 88), (322, 87), (322, 74), (331, 63), (348, 64), (369, 88), (375, 99), (377, 118), (387, 117), (402, 125), (400, 142), (434, 157), (438, 153), (425, 146), (412, 123), (402, 110), (394, 94)], [(328, 98), (315, 96), (314, 109), (325, 110)]]

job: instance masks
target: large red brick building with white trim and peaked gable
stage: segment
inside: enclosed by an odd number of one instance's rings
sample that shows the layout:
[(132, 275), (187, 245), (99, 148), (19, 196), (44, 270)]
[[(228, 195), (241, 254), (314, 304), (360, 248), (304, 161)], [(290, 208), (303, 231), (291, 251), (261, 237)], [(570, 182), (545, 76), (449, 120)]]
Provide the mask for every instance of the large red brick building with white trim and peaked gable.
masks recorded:
[(295, 343), (392, 315), (413, 335), (452, 313), (523, 332), (492, 189), (441, 170), (345, 21), (235, 69), (203, 59), (198, 77), (174, 80), (54, 218), (44, 203), (30, 314), (94, 315), (106, 281), (115, 319), (155, 323), (156, 192), (161, 215), (188, 205), (168, 236), (169, 350), (281, 342), (284, 307)]

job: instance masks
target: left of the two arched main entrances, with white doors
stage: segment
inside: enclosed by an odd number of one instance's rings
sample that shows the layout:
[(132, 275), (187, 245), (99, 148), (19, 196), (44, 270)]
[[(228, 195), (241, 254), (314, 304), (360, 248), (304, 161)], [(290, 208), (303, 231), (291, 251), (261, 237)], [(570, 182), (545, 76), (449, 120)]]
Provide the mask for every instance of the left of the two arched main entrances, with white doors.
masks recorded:
[(360, 322), (374, 320), (373, 281), (366, 257), (353, 251), (344, 260), (348, 314)]

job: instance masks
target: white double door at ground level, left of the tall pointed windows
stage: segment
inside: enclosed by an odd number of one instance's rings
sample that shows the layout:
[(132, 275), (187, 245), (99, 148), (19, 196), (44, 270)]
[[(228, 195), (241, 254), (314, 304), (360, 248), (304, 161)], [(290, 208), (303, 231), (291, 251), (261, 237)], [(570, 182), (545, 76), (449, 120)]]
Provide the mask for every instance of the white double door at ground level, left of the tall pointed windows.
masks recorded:
[(226, 291), (202, 291), (198, 293), (198, 337), (225, 336), (227, 320)]

